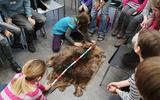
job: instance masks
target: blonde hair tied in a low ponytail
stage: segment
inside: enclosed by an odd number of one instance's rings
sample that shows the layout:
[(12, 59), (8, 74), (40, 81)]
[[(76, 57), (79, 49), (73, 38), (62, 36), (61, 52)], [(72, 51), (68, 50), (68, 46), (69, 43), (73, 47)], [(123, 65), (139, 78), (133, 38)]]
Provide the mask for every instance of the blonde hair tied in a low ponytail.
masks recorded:
[(46, 71), (46, 64), (40, 59), (27, 61), (22, 69), (22, 76), (12, 81), (12, 89), (16, 95), (33, 91), (34, 87), (28, 84), (29, 81), (36, 81), (42, 77)]

